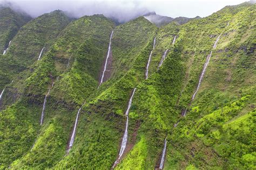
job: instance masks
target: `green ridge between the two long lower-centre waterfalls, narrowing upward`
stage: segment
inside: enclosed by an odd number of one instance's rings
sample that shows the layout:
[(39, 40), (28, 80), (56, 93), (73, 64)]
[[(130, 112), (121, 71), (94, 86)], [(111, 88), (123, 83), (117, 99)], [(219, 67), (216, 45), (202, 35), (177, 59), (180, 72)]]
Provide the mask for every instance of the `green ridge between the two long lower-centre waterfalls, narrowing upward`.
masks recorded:
[[(124, 24), (123, 29), (127, 30), (125, 26), (136, 25), (138, 22), (142, 24), (140, 25), (142, 29), (145, 29), (149, 24), (143, 18), (139, 18), (129, 24)], [(106, 90), (102, 90), (105, 86), (100, 87), (102, 92), (96, 98), (92, 98), (91, 102), (87, 100), (83, 109), (84, 112), (79, 118), (75, 144), (70, 154), (60, 161), (56, 167), (104, 169), (111, 167), (118, 154), (119, 141), (122, 140), (125, 126), (123, 113), (126, 110), (131, 90), (140, 81), (144, 80), (145, 65), (152, 48), (155, 29), (156, 27), (151, 26), (149, 40), (146, 46), (140, 47), (141, 50), (134, 58), (134, 64), (130, 70), (126, 74), (122, 73), (124, 76)], [(130, 33), (130, 37), (134, 38), (134, 32)], [(119, 39), (117, 35), (114, 36)], [(140, 37), (136, 38), (140, 39)], [(127, 46), (129, 45), (127, 42)], [(136, 122), (131, 120), (129, 127), (131, 131), (136, 129), (135, 124)]]

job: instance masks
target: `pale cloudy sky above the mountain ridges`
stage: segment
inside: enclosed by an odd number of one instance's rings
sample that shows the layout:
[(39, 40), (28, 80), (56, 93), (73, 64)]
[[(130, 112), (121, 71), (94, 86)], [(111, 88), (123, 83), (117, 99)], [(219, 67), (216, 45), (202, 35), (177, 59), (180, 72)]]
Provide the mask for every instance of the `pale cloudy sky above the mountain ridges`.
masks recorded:
[(226, 5), (236, 5), (248, 0), (0, 0), (0, 4), (11, 4), (32, 17), (60, 9), (73, 17), (102, 13), (119, 22), (155, 11), (159, 15), (175, 17), (206, 17)]

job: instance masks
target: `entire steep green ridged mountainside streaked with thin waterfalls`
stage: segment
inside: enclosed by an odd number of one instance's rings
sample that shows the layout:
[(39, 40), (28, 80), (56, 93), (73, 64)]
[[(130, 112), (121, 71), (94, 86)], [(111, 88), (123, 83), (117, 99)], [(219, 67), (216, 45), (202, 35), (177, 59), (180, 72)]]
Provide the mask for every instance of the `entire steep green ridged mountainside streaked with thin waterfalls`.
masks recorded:
[(0, 168), (254, 169), (255, 10), (26, 23), (0, 54)]

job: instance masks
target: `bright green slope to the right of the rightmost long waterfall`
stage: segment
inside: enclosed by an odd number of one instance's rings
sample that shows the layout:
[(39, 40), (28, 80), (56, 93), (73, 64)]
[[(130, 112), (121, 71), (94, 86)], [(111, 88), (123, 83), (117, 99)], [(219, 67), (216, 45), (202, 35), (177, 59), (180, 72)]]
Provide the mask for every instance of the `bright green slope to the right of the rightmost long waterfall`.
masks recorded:
[[(181, 119), (178, 128), (173, 130), (170, 137), (166, 169), (248, 168), (253, 166), (251, 163), (255, 157), (250, 155), (252, 154), (253, 135), (248, 135), (245, 141), (238, 140), (233, 147), (237, 139), (228, 136), (224, 128), (228, 121), (232, 122), (252, 111), (252, 106), (255, 104), (255, 97), (253, 97), (255, 86), (252, 83), (255, 82), (255, 70), (253, 69), (255, 52), (251, 48), (255, 46), (253, 42), (255, 19), (250, 18), (255, 18), (255, 5), (245, 3), (226, 7), (210, 17), (190, 22), (184, 26), (184, 29), (188, 29), (184, 31), (184, 36), (191, 37), (192, 30), (197, 28), (198, 35), (205, 34), (202, 36), (204, 39), (208, 39), (210, 34), (221, 34), (221, 38), (217, 49), (213, 51), (196, 99), (191, 107), (188, 107), (187, 116)], [(215, 22), (211, 22), (213, 19)], [(227, 22), (230, 23), (228, 26)], [(200, 25), (200, 28), (196, 27), (197, 25)], [(215, 29), (209, 30), (209, 27), (213, 26)], [(195, 40), (198, 38), (199, 36), (196, 36)], [(191, 40), (193, 41), (193, 38)], [(203, 40), (197, 40), (197, 42), (199, 44), (196, 48), (204, 47)], [(212, 45), (213, 41), (210, 42)], [(187, 43), (185, 48), (190, 49), (189, 44)], [(198, 83), (200, 72), (197, 70), (201, 68), (198, 67), (198, 63), (203, 66), (203, 62), (198, 62), (200, 55), (197, 51), (195, 54), (186, 55), (189, 57), (188, 61), (193, 62), (187, 69), (185, 79), (187, 83), (184, 83), (186, 87), (180, 98), (179, 110), (187, 107)], [(202, 52), (204, 51), (200, 51)], [(210, 50), (204, 53), (204, 57), (209, 52)], [(241, 131), (246, 126), (242, 125)], [(253, 124), (250, 126), (252, 127)], [(237, 133), (237, 138), (242, 138), (240, 134)], [(244, 155), (246, 159), (248, 158), (246, 161), (242, 160)]]

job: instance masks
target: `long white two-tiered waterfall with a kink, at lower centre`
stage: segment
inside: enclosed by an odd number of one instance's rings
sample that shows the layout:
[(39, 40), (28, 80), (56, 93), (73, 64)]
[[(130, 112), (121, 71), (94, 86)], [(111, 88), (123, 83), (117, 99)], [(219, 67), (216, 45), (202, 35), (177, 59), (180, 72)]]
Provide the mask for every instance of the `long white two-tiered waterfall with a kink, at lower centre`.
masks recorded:
[(126, 148), (126, 144), (127, 144), (127, 139), (128, 139), (128, 123), (129, 123), (129, 112), (130, 112), (130, 108), (131, 108), (131, 105), (132, 105), (132, 98), (134, 96), (134, 93), (136, 91), (136, 88), (133, 89), (132, 91), (132, 96), (129, 100), (129, 104), (128, 104), (128, 107), (126, 109), (126, 112), (125, 112), (125, 115), (126, 115), (126, 124), (125, 124), (125, 131), (124, 131), (124, 136), (123, 136), (123, 139), (122, 139), (122, 144), (121, 144), (121, 148), (120, 148), (120, 152), (119, 152), (119, 155), (118, 155), (118, 159), (114, 162), (114, 165), (112, 168), (114, 168), (120, 161), (124, 151), (125, 151), (125, 148)]

